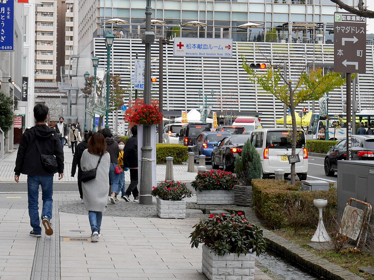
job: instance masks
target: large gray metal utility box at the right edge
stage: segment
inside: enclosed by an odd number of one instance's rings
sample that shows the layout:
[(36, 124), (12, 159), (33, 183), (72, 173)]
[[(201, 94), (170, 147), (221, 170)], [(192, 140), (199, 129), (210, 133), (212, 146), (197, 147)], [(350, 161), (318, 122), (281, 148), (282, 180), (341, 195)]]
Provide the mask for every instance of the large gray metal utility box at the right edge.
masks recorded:
[[(355, 198), (374, 204), (374, 161), (338, 161), (338, 211), (343, 214), (347, 201)], [(353, 207), (362, 204), (352, 201)]]

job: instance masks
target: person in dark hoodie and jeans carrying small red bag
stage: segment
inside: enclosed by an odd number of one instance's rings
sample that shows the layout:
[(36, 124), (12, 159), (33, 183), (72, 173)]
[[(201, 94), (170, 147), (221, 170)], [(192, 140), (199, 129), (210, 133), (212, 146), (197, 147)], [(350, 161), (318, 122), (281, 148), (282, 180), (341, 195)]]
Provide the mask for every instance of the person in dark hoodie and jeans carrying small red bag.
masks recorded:
[(113, 134), (109, 128), (104, 128), (101, 131), (101, 134), (105, 137), (105, 142), (107, 143), (107, 152), (110, 155), (109, 178), (112, 186), (110, 202), (112, 204), (116, 204), (115, 196), (117, 195), (119, 174), (116, 174), (115, 169), (118, 166), (119, 147), (118, 143), (114, 141)]

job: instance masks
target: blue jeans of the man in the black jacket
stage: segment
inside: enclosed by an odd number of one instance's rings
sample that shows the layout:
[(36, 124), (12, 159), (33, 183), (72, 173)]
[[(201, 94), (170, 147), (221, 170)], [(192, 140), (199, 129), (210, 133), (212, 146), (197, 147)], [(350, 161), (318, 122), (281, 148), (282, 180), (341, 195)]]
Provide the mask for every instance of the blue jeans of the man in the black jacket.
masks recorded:
[(41, 233), (39, 220), (39, 185), (42, 187), (43, 210), (42, 217), (47, 216), (52, 219), (52, 194), (53, 194), (53, 175), (46, 176), (27, 176), (27, 196), (28, 196), (28, 215), (30, 216), (30, 225), (35, 233)]

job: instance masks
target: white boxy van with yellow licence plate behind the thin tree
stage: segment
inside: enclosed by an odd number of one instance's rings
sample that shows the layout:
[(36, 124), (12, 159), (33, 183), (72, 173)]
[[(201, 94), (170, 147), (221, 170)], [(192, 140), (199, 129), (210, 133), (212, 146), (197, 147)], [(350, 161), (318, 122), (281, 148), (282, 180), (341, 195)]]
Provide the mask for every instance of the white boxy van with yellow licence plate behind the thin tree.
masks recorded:
[[(283, 169), (285, 177), (291, 174), (292, 131), (286, 128), (264, 128), (252, 131), (251, 143), (255, 146), (261, 158), (262, 177), (269, 178), (275, 174), (276, 169)], [(298, 130), (296, 154), (300, 162), (295, 164), (295, 171), (300, 180), (306, 180), (308, 172), (308, 152), (306, 149), (305, 133)]]

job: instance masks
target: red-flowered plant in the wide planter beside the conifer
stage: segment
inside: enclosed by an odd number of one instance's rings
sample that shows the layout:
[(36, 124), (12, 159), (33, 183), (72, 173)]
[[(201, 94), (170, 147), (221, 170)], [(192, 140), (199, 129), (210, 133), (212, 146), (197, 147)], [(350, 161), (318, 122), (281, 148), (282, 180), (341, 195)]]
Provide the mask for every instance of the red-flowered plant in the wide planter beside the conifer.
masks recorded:
[(223, 170), (209, 170), (197, 173), (192, 187), (195, 190), (232, 190), (238, 183), (232, 172)]

